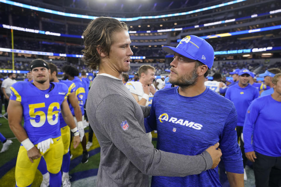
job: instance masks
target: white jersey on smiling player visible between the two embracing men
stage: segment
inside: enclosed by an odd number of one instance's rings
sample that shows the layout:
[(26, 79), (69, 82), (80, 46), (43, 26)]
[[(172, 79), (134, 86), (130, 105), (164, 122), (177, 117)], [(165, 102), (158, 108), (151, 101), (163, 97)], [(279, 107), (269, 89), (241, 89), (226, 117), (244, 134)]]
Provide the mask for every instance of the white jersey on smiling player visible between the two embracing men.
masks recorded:
[[(153, 84), (151, 84), (151, 85), (155, 89), (155, 86)], [(126, 83), (126, 86), (131, 93), (134, 93), (138, 96), (138, 101), (140, 101), (144, 94), (142, 83), (136, 82), (136, 81), (128, 81)], [(149, 98), (148, 98), (148, 101), (146, 101), (145, 106), (151, 106), (151, 104), (152, 104), (153, 94), (149, 93), (148, 95), (149, 95)]]

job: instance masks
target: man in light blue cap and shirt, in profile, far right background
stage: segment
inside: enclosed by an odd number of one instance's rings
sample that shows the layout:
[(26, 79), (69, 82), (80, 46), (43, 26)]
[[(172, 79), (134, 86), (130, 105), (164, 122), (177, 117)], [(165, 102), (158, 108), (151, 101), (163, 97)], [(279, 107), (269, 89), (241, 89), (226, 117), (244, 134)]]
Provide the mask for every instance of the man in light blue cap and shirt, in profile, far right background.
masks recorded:
[(261, 97), (262, 96), (270, 95), (270, 94), (272, 94), (274, 92), (273, 84), (272, 84), (272, 78), (277, 73), (281, 73), (281, 70), (279, 68), (270, 68), (270, 69), (266, 70), (264, 73), (259, 75), (259, 77), (264, 77), (264, 84), (267, 87), (266, 90), (261, 92)]

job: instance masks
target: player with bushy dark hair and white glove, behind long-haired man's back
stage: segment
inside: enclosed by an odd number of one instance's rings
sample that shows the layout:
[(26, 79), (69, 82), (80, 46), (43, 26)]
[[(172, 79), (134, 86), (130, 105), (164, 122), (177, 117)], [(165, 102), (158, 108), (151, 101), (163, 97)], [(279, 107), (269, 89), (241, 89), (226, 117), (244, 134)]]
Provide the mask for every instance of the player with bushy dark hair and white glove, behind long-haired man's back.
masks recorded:
[(84, 85), (83, 85), (83, 82), (78, 78), (78, 75), (79, 75), (79, 71), (77, 70), (76, 67), (73, 67), (71, 65), (65, 65), (64, 67), (62, 67), (62, 70), (64, 72), (64, 77), (63, 77), (63, 80), (70, 80), (72, 82), (75, 83), (75, 87), (76, 87), (76, 91), (75, 91), (75, 94), (78, 98), (78, 102), (79, 102), (79, 106), (81, 108), (81, 112), (82, 112), (82, 122), (77, 122), (77, 119), (76, 117), (74, 116), (74, 109), (73, 109), (73, 106), (72, 105), (69, 105), (70, 107), (70, 110), (72, 112), (72, 115), (74, 117), (74, 121), (76, 122), (76, 125), (78, 127), (78, 130), (79, 130), (79, 133), (80, 133), (80, 137), (83, 137), (82, 141), (81, 141), (81, 145), (82, 145), (82, 148), (83, 148), (83, 157), (82, 157), (82, 160), (81, 160), (81, 163), (86, 163), (88, 162), (88, 157), (89, 157), (89, 154), (87, 152), (87, 149), (86, 149), (86, 137), (84, 136), (84, 126), (83, 126), (83, 121), (84, 121), (84, 104), (86, 102), (86, 91), (85, 91), (85, 88), (84, 88)]

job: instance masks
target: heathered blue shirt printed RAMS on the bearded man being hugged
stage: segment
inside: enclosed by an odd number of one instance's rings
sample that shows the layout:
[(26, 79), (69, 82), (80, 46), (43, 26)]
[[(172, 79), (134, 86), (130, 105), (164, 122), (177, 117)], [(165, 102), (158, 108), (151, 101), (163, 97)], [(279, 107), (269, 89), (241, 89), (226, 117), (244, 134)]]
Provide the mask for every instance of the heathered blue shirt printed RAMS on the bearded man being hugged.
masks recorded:
[[(209, 88), (198, 96), (184, 97), (179, 87), (161, 89), (153, 97), (147, 132), (157, 130), (157, 149), (198, 155), (216, 142), (228, 172), (244, 172), (235, 131), (237, 114), (232, 102)], [(153, 176), (151, 186), (221, 186), (217, 167), (185, 177)]]

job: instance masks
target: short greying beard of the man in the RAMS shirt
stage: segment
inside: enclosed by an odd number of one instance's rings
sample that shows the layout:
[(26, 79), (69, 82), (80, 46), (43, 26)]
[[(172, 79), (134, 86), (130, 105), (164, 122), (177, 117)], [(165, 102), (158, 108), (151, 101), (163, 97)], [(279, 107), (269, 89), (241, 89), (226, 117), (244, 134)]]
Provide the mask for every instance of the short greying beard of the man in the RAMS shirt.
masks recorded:
[(198, 74), (197, 74), (197, 68), (194, 68), (191, 73), (186, 73), (184, 75), (181, 75), (177, 80), (172, 80), (171, 77), (169, 78), (169, 82), (171, 84), (180, 86), (182, 88), (187, 88), (189, 86), (192, 86), (196, 84), (198, 80)]

